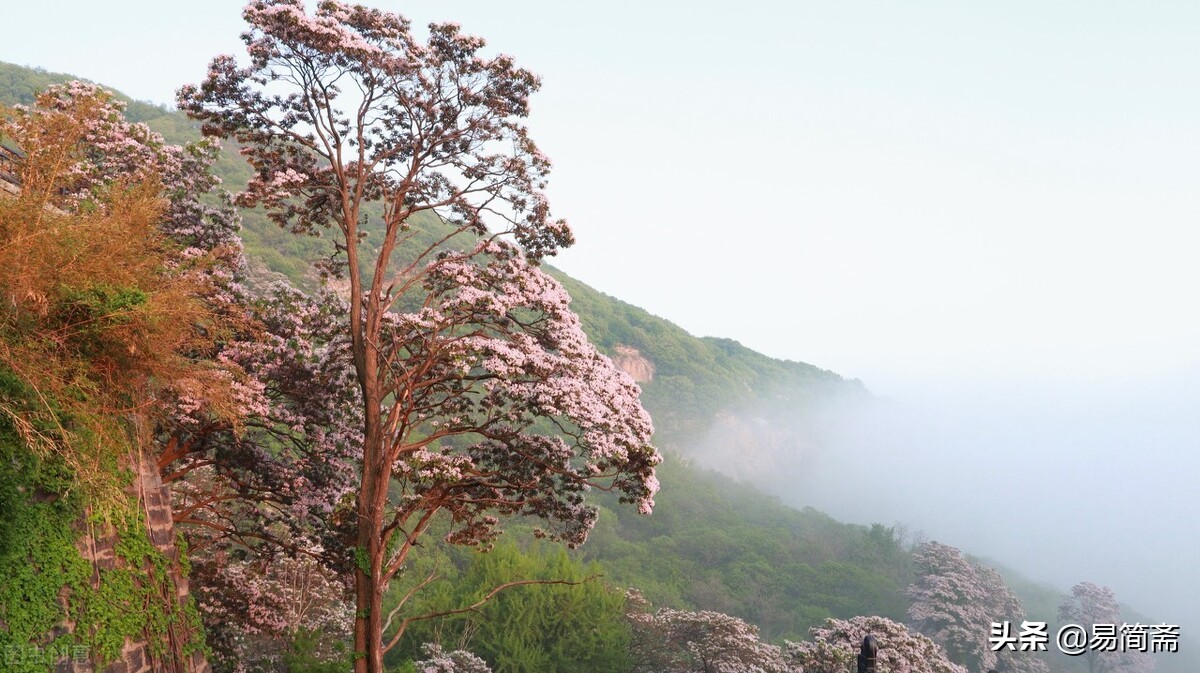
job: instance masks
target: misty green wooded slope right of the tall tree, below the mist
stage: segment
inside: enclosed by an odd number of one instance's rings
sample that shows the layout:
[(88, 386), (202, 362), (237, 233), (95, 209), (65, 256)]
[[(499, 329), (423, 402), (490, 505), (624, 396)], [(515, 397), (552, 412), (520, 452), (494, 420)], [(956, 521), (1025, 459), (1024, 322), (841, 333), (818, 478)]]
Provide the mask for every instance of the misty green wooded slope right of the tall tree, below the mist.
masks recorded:
[(739, 617), (773, 641), (828, 617), (905, 618), (911, 557), (894, 529), (797, 511), (678, 456), (659, 471), (654, 516), (606, 509), (583, 546), (612, 582), (658, 606)]

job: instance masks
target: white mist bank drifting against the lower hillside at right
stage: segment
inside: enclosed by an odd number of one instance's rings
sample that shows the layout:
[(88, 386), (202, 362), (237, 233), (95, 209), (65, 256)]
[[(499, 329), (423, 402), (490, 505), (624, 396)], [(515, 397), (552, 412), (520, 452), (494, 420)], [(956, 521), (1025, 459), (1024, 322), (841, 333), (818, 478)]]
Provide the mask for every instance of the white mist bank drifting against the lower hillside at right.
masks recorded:
[(1200, 368), (1087, 383), (942, 380), (803, 417), (745, 410), (755, 447), (731, 449), (718, 425), (698, 458), (750, 451), (713, 467), (791, 505), (899, 524), (1062, 593), (1084, 581), (1111, 587), (1142, 618), (1178, 624), (1190, 649), (1196, 399)]

